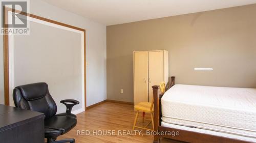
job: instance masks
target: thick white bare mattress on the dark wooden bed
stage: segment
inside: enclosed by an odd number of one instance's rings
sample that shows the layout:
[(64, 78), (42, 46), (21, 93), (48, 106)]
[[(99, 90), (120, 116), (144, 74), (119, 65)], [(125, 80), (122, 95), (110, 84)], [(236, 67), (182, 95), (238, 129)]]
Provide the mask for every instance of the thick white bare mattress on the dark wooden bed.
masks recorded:
[(256, 138), (256, 89), (176, 84), (161, 103), (165, 123)]

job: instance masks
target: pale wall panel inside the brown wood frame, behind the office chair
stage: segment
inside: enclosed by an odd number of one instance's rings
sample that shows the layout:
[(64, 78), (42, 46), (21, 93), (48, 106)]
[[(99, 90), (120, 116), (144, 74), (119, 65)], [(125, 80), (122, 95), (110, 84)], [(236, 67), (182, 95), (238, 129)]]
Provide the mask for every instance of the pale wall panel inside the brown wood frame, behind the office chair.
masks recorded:
[[(83, 32), (37, 22), (29, 21), (28, 36), (10, 38), (14, 41), (13, 46), (9, 45), (12, 49), (9, 52), (10, 77), (14, 77), (10, 80), (12, 89), (18, 85), (46, 82), (57, 104), (57, 113), (66, 111), (65, 105), (60, 103), (63, 99), (79, 101), (72, 111), (83, 111)], [(12, 101), (11, 97), (10, 105), (14, 105)]]

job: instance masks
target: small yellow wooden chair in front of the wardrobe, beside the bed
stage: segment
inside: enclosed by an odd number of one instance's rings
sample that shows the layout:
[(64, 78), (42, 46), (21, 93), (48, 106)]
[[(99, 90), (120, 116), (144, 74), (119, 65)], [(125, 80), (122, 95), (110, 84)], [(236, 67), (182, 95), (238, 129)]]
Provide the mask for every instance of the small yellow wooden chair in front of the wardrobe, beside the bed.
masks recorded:
[[(160, 92), (164, 92), (164, 89), (165, 89), (165, 82), (161, 82), (160, 83)], [(152, 102), (140, 102), (139, 104), (134, 106), (135, 110), (137, 110), (137, 113), (136, 113), (134, 124), (133, 124), (133, 130), (134, 130), (134, 128), (140, 128), (140, 129), (144, 129), (144, 130), (154, 131), (154, 109), (153, 109), (153, 105), (154, 105), (154, 98), (152, 99)], [(137, 123), (137, 120), (138, 120), (138, 115), (139, 115), (140, 111), (143, 112), (142, 123), (144, 123), (145, 112), (151, 114), (151, 121), (149, 123), (147, 123), (145, 127), (136, 126), (136, 123)], [(150, 123), (152, 123), (153, 129), (147, 128), (147, 126), (150, 125)]]

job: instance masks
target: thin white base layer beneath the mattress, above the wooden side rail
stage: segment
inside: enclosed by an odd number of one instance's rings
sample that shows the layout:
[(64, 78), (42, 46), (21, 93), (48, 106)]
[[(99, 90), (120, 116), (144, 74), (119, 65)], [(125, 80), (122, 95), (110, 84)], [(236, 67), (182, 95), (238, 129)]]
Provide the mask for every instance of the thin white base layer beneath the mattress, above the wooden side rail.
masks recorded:
[(211, 131), (211, 130), (205, 130), (205, 129), (199, 129), (199, 128), (190, 128), (190, 127), (186, 127), (186, 126), (169, 124), (169, 123), (165, 123), (165, 122), (162, 122), (161, 126), (168, 127), (168, 128), (180, 129), (180, 130), (186, 130), (186, 131), (193, 131), (193, 132), (198, 132), (198, 133), (211, 134), (211, 135), (216, 135), (216, 136), (222, 136), (222, 137), (238, 139), (238, 140), (243, 140), (243, 141), (256, 142), (256, 138), (234, 135), (234, 134), (223, 133), (223, 132), (217, 132), (217, 131)]

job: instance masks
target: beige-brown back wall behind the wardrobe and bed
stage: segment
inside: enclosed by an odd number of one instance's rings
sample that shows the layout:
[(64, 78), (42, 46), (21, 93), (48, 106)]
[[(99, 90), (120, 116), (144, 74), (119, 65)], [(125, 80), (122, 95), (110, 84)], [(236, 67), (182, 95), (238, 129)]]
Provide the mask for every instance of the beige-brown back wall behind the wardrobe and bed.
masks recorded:
[(176, 83), (256, 88), (255, 13), (247, 5), (107, 26), (107, 99), (133, 102), (136, 50), (168, 50)]

